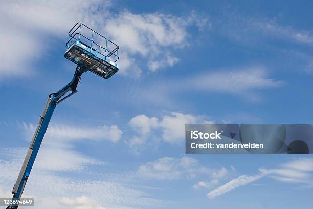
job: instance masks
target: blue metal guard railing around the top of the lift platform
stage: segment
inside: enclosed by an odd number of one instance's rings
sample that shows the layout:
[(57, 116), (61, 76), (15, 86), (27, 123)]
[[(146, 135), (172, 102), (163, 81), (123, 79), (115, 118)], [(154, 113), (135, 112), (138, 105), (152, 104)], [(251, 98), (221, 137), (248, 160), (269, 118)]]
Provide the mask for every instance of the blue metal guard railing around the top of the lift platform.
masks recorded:
[[(86, 37), (86, 34), (82, 34), (82, 27), (86, 28), (87, 30), (90, 30), (91, 33), (91, 39)], [(79, 30), (79, 31), (77, 31)], [(98, 32), (94, 31), (93, 29), (91, 29), (90, 27), (84, 25), (83, 23), (76, 23), (73, 28), (69, 31), (69, 40), (68, 42), (66, 42), (66, 46), (68, 47), (68, 49), (74, 44), (84, 44), (87, 47), (90, 48), (90, 52), (95, 54), (96, 56), (98, 55), (98, 53), (100, 55), (102, 55), (105, 59), (105, 61), (107, 61), (108, 57), (113, 57), (114, 63), (116, 64), (116, 66), (118, 66), (118, 60), (119, 60), (119, 46), (116, 45), (115, 43), (113, 43), (112, 41), (110, 41), (109, 39), (107, 39), (106, 37), (104, 37), (103, 35), (99, 34)], [(95, 41), (95, 35), (99, 36), (102, 41), (105, 43), (105, 47), (101, 46), (100, 44), (96, 43)], [(85, 38), (86, 40), (90, 41), (90, 45), (87, 43), (83, 43), (81, 41), (81, 38)], [(102, 42), (100, 41), (100, 42)], [(111, 44), (113, 46), (112, 50), (108, 49), (108, 44)], [(94, 48), (93, 48), (94, 47)], [(105, 54), (103, 54), (104, 51)], [(98, 57), (98, 56), (97, 56)], [(110, 58), (111, 59), (111, 58)]]

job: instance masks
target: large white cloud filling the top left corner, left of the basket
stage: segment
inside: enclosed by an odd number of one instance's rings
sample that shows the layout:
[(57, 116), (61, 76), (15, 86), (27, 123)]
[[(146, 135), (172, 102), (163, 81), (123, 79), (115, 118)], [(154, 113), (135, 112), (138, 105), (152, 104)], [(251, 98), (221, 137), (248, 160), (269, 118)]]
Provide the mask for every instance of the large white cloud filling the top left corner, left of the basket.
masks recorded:
[[(25, 76), (32, 73), (35, 59), (49, 55), (49, 38), (65, 37), (77, 21), (94, 23), (99, 13), (94, 13), (100, 3), (88, 1), (10, 1), (0, 7), (0, 34), (6, 53), (0, 57), (2, 76)], [(102, 6), (108, 5), (102, 2)], [(34, 12), (36, 11), (36, 12)], [(88, 11), (88, 12), (87, 12)], [(95, 15), (96, 14), (96, 15)], [(103, 14), (102, 14), (103, 15)], [(50, 45), (51, 48), (51, 45)], [(40, 56), (39, 56), (40, 54)]]

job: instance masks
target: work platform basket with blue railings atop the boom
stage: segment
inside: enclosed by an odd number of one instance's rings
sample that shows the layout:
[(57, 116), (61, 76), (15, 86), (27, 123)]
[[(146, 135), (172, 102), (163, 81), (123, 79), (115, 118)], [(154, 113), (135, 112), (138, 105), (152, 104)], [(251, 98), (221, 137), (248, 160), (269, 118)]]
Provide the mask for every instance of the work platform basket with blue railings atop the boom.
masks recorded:
[(82, 23), (69, 31), (64, 57), (107, 79), (118, 69), (119, 46)]

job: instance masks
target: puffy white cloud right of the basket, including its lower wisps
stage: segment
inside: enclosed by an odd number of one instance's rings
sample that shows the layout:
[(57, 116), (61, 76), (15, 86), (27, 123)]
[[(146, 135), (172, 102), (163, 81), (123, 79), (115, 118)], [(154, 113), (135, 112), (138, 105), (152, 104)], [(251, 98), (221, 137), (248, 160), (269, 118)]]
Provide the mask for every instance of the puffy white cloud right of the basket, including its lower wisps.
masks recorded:
[[(116, 15), (114, 19), (110, 19), (106, 28), (106, 33), (110, 37), (114, 37), (116, 43), (121, 46), (121, 51), (124, 54), (121, 60), (133, 65), (136, 72), (133, 75), (138, 77), (142, 72), (139, 67), (138, 60), (132, 57), (141, 55), (146, 58), (148, 68), (151, 72), (155, 72), (160, 68), (172, 67), (178, 62), (178, 58), (171, 55), (172, 48), (182, 48), (187, 45), (187, 27), (196, 23), (199, 29), (203, 28), (207, 23), (204, 19), (201, 23), (195, 13), (191, 13), (187, 17), (176, 17), (159, 13), (152, 14), (132, 14), (129, 11), (124, 11)], [(164, 59), (156, 59), (162, 54)], [(122, 74), (124, 71), (124, 63), (121, 63)], [(125, 69), (126, 70), (126, 69)], [(129, 71), (127, 69), (127, 71)]]

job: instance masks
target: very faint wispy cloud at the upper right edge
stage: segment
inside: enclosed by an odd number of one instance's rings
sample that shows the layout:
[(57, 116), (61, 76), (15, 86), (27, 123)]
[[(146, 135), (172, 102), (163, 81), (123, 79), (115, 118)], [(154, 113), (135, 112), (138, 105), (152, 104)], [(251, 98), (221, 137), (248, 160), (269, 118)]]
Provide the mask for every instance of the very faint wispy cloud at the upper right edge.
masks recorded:
[(248, 17), (236, 12), (225, 12), (216, 30), (220, 30), (221, 34), (229, 37), (230, 40), (245, 46), (265, 48), (276, 45), (273, 40), (278, 40), (277, 43), (285, 41), (303, 46), (313, 44), (312, 31), (296, 28), (294, 25), (285, 24), (285, 21), (282, 23), (280, 20), (282, 19), (277, 17)]

